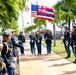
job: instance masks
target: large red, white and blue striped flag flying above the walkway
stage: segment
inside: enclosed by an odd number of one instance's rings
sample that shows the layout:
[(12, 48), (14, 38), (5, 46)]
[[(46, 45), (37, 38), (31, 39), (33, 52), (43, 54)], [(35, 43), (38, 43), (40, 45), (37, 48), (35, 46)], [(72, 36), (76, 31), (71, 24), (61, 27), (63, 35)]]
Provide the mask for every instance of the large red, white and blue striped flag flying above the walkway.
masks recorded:
[(54, 9), (46, 6), (32, 5), (31, 6), (32, 17), (37, 17), (43, 20), (54, 21)]

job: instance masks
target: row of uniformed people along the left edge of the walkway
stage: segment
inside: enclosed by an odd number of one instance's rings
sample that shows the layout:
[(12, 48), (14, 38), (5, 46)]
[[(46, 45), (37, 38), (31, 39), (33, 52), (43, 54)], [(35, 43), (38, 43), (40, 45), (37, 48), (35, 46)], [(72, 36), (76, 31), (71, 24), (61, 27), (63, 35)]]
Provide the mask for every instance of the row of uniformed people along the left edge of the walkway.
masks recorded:
[(20, 32), (18, 36), (19, 43), (15, 40), (14, 30), (5, 30), (2, 36), (3, 40), (0, 41), (0, 75), (17, 75), (15, 72), (17, 47), (20, 48), (21, 55), (24, 54), (25, 38), (23, 32)]

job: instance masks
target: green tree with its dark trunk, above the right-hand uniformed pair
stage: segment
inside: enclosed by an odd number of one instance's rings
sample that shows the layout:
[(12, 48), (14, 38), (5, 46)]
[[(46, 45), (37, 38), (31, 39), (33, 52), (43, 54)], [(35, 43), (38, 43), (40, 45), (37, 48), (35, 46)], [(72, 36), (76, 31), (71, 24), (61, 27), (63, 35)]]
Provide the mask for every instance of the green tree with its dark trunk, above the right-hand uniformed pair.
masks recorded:
[(74, 19), (73, 11), (75, 11), (75, 6), (76, 6), (76, 0), (61, 0), (57, 2), (54, 6), (56, 12), (58, 12), (59, 9), (61, 9), (60, 11), (62, 12), (60, 14), (57, 13), (56, 15), (62, 15), (60, 17), (60, 20), (63, 21), (65, 20), (66, 22), (68, 22), (69, 29), (70, 29), (70, 21)]

